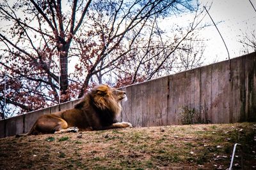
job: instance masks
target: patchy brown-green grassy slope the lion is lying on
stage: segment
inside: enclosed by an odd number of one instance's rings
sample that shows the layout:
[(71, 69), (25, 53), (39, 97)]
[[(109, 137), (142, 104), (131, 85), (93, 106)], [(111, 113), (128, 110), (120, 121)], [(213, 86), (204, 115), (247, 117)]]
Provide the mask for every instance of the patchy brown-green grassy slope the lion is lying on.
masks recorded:
[(0, 169), (256, 169), (255, 123), (173, 125), (0, 139)]

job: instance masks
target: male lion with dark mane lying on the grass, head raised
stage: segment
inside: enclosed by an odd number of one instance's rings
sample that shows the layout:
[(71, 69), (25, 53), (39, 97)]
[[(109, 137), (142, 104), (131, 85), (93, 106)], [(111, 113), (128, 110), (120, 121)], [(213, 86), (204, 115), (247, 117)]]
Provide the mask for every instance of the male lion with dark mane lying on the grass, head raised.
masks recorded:
[(97, 85), (73, 109), (40, 116), (26, 135), (132, 127), (128, 122), (116, 121), (121, 101), (127, 101), (124, 91)]

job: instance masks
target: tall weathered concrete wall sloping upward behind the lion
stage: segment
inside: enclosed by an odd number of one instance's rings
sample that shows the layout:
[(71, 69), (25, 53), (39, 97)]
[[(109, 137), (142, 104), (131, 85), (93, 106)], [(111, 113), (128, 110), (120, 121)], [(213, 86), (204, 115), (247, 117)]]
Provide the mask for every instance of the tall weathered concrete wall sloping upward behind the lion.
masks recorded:
[[(205, 123), (256, 120), (256, 52), (182, 73), (124, 87), (121, 119), (136, 127), (180, 124), (184, 107)], [(36, 118), (72, 108), (72, 101), (0, 121), (0, 138), (28, 132)], [(196, 121), (196, 120), (195, 120)]]

